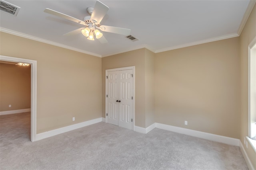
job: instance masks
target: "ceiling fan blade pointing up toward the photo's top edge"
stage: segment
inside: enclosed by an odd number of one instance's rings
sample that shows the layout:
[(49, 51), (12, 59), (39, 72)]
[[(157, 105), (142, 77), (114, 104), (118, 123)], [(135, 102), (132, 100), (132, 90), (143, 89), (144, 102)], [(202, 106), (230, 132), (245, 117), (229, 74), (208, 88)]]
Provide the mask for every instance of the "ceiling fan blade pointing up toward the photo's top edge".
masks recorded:
[(108, 9), (108, 6), (97, 0), (92, 12), (91, 21), (96, 21), (96, 24), (100, 24), (102, 18), (104, 18), (108, 12)]

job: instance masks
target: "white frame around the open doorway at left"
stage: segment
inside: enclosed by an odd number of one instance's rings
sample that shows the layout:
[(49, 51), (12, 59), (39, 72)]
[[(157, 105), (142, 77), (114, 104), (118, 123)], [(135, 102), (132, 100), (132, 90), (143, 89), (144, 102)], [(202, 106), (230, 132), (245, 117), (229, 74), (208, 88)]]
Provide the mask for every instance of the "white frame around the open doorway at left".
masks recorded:
[(0, 60), (2, 61), (11, 61), (11, 62), (18, 62), (18, 63), (29, 63), (31, 64), (31, 136), (30, 141), (36, 141), (36, 70), (37, 70), (37, 61), (35, 60), (28, 60), (28, 59), (21, 59), (16, 57), (9, 57), (0, 55)]

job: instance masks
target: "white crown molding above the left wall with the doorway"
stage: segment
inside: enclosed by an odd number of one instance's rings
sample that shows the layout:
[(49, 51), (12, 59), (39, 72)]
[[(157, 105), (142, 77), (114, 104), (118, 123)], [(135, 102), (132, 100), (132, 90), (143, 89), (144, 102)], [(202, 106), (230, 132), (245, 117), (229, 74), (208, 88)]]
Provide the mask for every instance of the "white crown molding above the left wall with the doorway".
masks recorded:
[(57, 47), (62, 47), (62, 48), (65, 48), (65, 49), (70, 49), (70, 50), (73, 50), (73, 51), (78, 51), (80, 53), (84, 53), (84, 54), (88, 54), (88, 55), (93, 55), (93, 56), (96, 56), (96, 57), (101, 57), (101, 55), (98, 55), (96, 53), (91, 53), (89, 51), (84, 51), (84, 50), (81, 50), (81, 49), (76, 49), (76, 48), (70, 47), (68, 45), (63, 45), (63, 44), (60, 44), (60, 43), (55, 43), (53, 41), (49, 41), (49, 40), (46, 40), (46, 39), (34, 37), (34, 36), (31, 36), (31, 35), (28, 35), (28, 34), (20, 33), (20, 32), (13, 31), (13, 30), (10, 30), (10, 29), (6, 29), (6, 28), (3, 28), (3, 27), (0, 27), (0, 31), (2, 31), (4, 33), (9, 33), (9, 34), (12, 34), (12, 35), (17, 35), (19, 37), (24, 37), (24, 38), (27, 38), (27, 39), (32, 39), (34, 41), (39, 41), (39, 42), (42, 42), (42, 43), (54, 45), (54, 46), (57, 46)]

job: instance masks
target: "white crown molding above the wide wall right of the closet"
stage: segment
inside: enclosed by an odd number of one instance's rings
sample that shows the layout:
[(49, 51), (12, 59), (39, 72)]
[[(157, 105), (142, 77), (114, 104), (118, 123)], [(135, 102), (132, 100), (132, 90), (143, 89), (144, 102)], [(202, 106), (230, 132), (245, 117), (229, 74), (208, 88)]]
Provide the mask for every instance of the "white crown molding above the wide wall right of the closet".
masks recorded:
[(170, 51), (170, 50), (174, 50), (174, 49), (190, 47), (190, 46), (193, 46), (193, 45), (210, 43), (210, 42), (213, 42), (213, 41), (219, 41), (219, 40), (234, 38), (234, 37), (238, 37), (238, 36), (239, 35), (237, 33), (233, 33), (233, 34), (230, 34), (230, 35), (224, 35), (224, 36), (220, 36), (220, 37), (214, 37), (214, 38), (210, 38), (210, 39), (195, 41), (195, 42), (192, 42), (192, 43), (187, 43), (187, 44), (176, 45), (176, 46), (172, 46), (172, 47), (168, 47), (168, 48), (164, 48), (164, 49), (159, 49), (159, 50), (156, 50), (155, 53), (161, 53), (161, 52), (164, 52), (164, 51)]

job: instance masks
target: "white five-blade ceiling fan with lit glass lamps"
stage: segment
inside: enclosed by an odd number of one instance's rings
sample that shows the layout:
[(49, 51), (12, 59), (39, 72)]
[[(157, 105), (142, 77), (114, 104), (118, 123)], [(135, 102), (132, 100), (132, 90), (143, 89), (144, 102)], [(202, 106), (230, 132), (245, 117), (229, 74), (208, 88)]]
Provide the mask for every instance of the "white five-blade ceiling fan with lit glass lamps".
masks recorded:
[(76, 19), (66, 14), (62, 14), (60, 12), (51, 10), (49, 8), (46, 8), (44, 12), (48, 14), (52, 14), (54, 16), (64, 18), (66, 20), (80, 23), (86, 26), (86, 27), (78, 28), (76, 30), (68, 32), (64, 35), (74, 35), (82, 32), (84, 36), (88, 37), (87, 39), (94, 40), (94, 36), (95, 36), (96, 39), (99, 39), (101, 43), (107, 43), (108, 41), (105, 39), (105, 37), (102, 35), (100, 31), (117, 33), (122, 35), (130, 35), (130, 32), (131, 32), (130, 29), (100, 25), (100, 22), (108, 12), (108, 9), (109, 9), (108, 6), (104, 5), (102, 2), (97, 0), (94, 7), (87, 8), (87, 12), (90, 14), (90, 16), (85, 16), (83, 20)]

